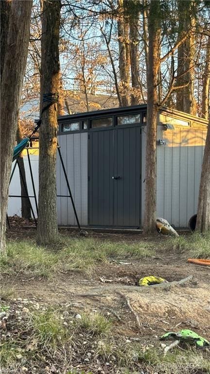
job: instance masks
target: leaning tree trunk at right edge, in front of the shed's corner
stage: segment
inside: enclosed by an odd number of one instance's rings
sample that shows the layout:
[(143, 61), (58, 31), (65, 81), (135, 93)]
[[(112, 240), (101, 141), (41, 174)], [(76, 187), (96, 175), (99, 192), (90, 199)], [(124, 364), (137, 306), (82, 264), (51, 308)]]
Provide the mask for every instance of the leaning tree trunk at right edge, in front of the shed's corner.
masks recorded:
[(202, 164), (196, 230), (200, 233), (210, 231), (210, 119)]

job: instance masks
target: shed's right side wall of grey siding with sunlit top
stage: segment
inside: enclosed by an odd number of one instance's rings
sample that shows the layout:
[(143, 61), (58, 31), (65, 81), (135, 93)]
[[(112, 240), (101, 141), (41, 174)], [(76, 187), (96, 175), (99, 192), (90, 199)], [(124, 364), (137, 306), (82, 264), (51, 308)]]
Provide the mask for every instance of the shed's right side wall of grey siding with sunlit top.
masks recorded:
[(206, 132), (175, 127), (157, 138), (166, 145), (157, 145), (157, 216), (175, 227), (188, 227), (197, 212), (202, 157)]

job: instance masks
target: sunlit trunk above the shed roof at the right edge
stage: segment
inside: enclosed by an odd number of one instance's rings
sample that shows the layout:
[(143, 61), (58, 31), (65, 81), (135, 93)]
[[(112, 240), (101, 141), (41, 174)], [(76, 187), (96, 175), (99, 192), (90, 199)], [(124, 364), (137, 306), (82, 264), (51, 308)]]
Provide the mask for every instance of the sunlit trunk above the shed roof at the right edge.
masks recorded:
[(202, 117), (208, 119), (210, 105), (210, 36), (206, 47), (206, 63), (203, 74)]

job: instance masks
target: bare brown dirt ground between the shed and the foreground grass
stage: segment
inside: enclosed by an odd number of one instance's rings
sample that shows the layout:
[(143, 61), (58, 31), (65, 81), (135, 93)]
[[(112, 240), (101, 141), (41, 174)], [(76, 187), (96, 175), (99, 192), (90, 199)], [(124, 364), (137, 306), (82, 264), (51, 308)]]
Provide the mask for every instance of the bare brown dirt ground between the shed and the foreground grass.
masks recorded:
[[(68, 230), (62, 231), (69, 235)], [(70, 235), (78, 235), (77, 233)], [(91, 234), (101, 240), (136, 242), (152, 240), (142, 235)], [(8, 239), (34, 238), (34, 229), (12, 229), (7, 233)], [(159, 240), (159, 239), (155, 239)], [(48, 305), (73, 305), (75, 313), (83, 310), (106, 311), (116, 319), (116, 332), (125, 338), (138, 338), (142, 344), (158, 341), (166, 331), (192, 329), (210, 339), (210, 270), (186, 262), (186, 253), (158, 250), (152, 257), (141, 261), (110, 260), (98, 266), (90, 275), (77, 272), (57, 273), (51, 280), (18, 276), (4, 276), (3, 282), (17, 292), (18, 297), (35, 298)], [(122, 260), (123, 261), (123, 260)], [(123, 261), (124, 262), (124, 261)], [(130, 263), (129, 263), (130, 262)], [(140, 277), (161, 276), (168, 281), (180, 280), (192, 275), (192, 279), (181, 286), (169, 290), (148, 287), (144, 292), (129, 288), (121, 289), (123, 295), (116, 292), (115, 284), (136, 285)], [(88, 296), (94, 288), (110, 287), (98, 296)], [(95, 293), (95, 292), (94, 292)], [(135, 313), (139, 316), (140, 326)], [(158, 342), (158, 344), (160, 344)]]

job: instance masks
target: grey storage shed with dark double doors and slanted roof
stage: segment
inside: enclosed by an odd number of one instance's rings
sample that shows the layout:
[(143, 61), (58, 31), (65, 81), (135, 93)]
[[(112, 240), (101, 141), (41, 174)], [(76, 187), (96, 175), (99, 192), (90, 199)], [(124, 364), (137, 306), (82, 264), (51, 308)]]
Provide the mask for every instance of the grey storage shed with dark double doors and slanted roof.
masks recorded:
[[(58, 142), (82, 226), (143, 226), (147, 106), (59, 118)], [(188, 227), (196, 213), (207, 121), (161, 108), (157, 119), (157, 217)], [(57, 158), (58, 224), (74, 226)]]

